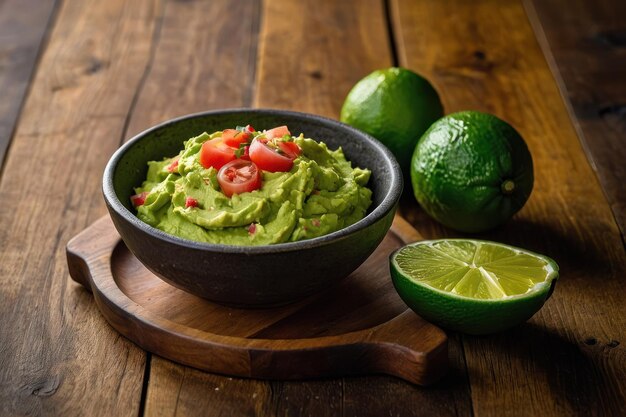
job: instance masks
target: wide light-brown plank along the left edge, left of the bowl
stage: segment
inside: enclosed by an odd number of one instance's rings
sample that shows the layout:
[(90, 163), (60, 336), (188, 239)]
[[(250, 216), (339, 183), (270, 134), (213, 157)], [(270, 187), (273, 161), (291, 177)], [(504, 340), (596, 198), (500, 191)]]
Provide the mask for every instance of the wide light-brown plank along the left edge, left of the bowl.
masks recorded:
[[(34, 7), (34, 6), (33, 6)], [(0, 182), (0, 414), (136, 416), (145, 353), (69, 283), (101, 173), (150, 60), (156, 1), (66, 0)]]

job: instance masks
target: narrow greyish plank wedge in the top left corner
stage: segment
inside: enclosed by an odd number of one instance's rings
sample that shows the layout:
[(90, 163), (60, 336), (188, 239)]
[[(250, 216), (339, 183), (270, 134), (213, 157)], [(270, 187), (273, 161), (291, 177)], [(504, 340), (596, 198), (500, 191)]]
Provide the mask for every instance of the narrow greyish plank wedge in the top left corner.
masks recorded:
[(56, 0), (0, 2), (0, 168), (55, 4)]

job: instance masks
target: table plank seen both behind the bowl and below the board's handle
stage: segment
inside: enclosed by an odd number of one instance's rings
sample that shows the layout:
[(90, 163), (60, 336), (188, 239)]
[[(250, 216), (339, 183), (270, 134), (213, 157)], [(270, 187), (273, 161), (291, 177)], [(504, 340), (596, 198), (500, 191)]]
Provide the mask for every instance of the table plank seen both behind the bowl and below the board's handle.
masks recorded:
[[(385, 2), (268, 0), (263, 8), (255, 105), (339, 118), (354, 83), (393, 64)], [(290, 22), (288, 32), (274, 22)], [(349, 29), (346, 29), (349, 28)], [(286, 34), (288, 33), (288, 34)], [(407, 329), (410, 331), (410, 329)], [(433, 390), (371, 376), (276, 382), (270, 415), (470, 415), (458, 341), (452, 371)], [(271, 410), (271, 411), (270, 411)], [(311, 410), (311, 411), (309, 411)]]

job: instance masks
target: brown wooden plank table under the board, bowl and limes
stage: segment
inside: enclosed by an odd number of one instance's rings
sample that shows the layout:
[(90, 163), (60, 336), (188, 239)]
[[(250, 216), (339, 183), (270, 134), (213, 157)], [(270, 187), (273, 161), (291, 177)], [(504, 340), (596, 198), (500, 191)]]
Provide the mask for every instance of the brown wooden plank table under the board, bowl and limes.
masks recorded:
[[(0, 414), (626, 415), (624, 16), (617, 0), (0, 0)], [(337, 118), (392, 65), (431, 80), (446, 112), (522, 133), (533, 194), (481, 237), (561, 266), (528, 323), (449, 333), (443, 381), (204, 373), (119, 336), (70, 281), (65, 245), (105, 214), (102, 170), (124, 140), (226, 107)], [(457, 236), (410, 197), (401, 214)]]

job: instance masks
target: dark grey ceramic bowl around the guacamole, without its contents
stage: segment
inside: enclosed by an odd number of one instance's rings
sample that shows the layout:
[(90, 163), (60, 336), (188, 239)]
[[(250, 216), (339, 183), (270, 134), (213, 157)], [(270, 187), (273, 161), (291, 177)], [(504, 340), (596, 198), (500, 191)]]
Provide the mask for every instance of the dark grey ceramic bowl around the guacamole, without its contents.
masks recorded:
[[(342, 147), (353, 166), (372, 171), (373, 203), (365, 218), (337, 232), (268, 246), (199, 243), (167, 234), (141, 220), (130, 203), (146, 177), (147, 162), (175, 155), (183, 142), (204, 131), (251, 124), (258, 130), (287, 125)], [(316, 293), (348, 276), (376, 249), (391, 226), (402, 192), (393, 155), (371, 136), (335, 120), (281, 110), (210, 111), (167, 121), (124, 144), (109, 160), (104, 199), (130, 251), (168, 283), (210, 301), (236, 307), (271, 307)]]

